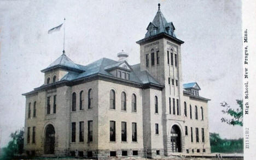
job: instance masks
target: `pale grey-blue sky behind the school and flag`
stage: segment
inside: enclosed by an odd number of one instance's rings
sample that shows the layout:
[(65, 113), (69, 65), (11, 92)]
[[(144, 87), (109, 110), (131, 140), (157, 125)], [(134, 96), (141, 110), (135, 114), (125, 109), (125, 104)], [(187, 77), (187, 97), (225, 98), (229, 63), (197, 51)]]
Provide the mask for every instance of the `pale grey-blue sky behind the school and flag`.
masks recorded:
[(210, 132), (241, 138), (242, 127), (224, 124), (220, 102), (237, 108), (242, 99), (240, 1), (0, 1), (0, 147), (24, 127), (25, 96), (44, 83), (45, 69), (61, 56), (66, 18), (66, 55), (86, 65), (129, 53), (139, 63), (139, 45), (158, 11), (173, 22), (181, 47), (184, 83), (197, 82), (208, 102)]

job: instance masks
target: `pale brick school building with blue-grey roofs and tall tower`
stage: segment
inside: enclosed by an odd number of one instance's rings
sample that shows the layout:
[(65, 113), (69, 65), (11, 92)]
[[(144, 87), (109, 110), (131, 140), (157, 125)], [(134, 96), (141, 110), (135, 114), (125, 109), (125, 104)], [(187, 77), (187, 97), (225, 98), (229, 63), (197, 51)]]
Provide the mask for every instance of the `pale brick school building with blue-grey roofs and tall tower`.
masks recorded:
[(149, 157), (210, 153), (209, 99), (182, 84), (181, 45), (160, 5), (129, 65), (102, 58), (75, 64), (65, 51), (42, 70), (44, 84), (26, 96), (28, 155)]

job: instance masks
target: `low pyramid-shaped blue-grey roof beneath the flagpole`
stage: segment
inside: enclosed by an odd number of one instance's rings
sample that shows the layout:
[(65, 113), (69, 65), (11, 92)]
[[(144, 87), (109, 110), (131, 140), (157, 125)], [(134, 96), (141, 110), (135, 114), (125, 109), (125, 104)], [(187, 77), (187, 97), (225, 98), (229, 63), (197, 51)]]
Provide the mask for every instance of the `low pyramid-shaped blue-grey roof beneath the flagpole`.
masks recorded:
[(42, 72), (55, 69), (56, 67), (61, 67), (69, 70), (83, 71), (79, 65), (75, 64), (70, 58), (66, 56), (65, 51), (63, 51), (63, 54), (59, 58), (57, 58), (48, 67), (46, 67), (46, 69), (42, 70)]

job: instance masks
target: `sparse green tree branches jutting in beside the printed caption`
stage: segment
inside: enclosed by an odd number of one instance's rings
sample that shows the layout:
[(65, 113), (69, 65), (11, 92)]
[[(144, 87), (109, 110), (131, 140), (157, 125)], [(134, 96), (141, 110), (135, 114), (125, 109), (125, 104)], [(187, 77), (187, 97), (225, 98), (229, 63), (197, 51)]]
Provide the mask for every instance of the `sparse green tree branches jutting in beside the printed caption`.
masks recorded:
[(231, 116), (231, 118), (222, 118), (221, 120), (232, 126), (243, 126), (243, 100), (236, 100), (236, 103), (239, 106), (236, 110), (230, 108), (226, 102), (220, 103), (220, 106), (224, 108), (222, 112)]

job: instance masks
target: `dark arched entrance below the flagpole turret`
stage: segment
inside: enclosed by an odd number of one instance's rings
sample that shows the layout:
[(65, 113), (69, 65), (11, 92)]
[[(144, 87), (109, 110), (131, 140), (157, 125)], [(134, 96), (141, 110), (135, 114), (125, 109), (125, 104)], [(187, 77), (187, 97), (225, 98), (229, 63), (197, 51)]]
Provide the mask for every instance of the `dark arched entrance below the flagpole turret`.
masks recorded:
[(54, 154), (55, 130), (54, 126), (49, 124), (45, 127), (44, 153)]

